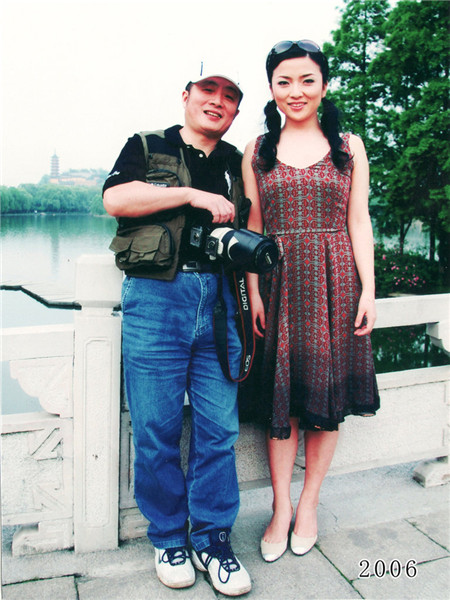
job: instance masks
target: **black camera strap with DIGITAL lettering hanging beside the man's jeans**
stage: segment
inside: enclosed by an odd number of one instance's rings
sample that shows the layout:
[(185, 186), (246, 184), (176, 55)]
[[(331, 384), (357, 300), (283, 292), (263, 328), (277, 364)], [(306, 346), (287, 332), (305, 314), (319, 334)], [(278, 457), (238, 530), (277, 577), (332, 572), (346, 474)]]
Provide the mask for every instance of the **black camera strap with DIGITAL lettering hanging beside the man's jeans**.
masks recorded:
[(223, 374), (229, 381), (244, 381), (250, 373), (253, 357), (255, 355), (255, 334), (253, 331), (252, 311), (247, 291), (247, 282), (243, 271), (233, 271), (232, 278), (236, 289), (238, 302), (238, 327), (241, 329), (242, 359), (237, 378), (232, 377), (228, 357), (228, 325), (227, 306), (223, 297), (223, 272), (219, 277), (218, 299), (214, 307), (214, 339), (217, 357)]

